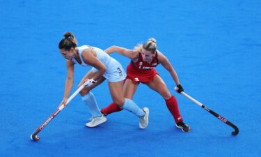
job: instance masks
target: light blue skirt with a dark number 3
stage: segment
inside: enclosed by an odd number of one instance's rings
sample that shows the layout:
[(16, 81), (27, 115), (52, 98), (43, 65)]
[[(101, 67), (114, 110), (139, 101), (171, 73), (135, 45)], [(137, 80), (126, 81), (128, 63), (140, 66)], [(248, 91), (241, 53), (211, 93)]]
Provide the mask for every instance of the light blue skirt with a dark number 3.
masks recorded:
[[(106, 71), (102, 75), (103, 77), (108, 80), (108, 82), (119, 82), (125, 80), (126, 73), (124, 68), (122, 68), (122, 65), (116, 61), (115, 59), (111, 58), (111, 61), (107, 63)], [(91, 69), (93, 73), (97, 73), (97, 68)]]

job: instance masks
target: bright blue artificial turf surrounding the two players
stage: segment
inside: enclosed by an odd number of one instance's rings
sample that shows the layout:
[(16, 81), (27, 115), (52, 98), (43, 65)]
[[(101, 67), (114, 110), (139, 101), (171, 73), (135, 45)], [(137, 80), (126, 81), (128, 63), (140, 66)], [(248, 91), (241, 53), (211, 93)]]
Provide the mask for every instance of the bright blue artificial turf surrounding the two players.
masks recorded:
[[(0, 156), (261, 156), (261, 1), (0, 1)], [(126, 111), (86, 128), (90, 112), (76, 96), (33, 142), (31, 133), (63, 98), (66, 68), (58, 52), (65, 31), (79, 45), (132, 49), (148, 38), (168, 57), (184, 91), (239, 127), (223, 124), (173, 91), (184, 121), (175, 128), (164, 99), (141, 84), (134, 101), (150, 108), (150, 124)], [(129, 59), (112, 54), (122, 66)], [(74, 87), (90, 68), (74, 68)], [(111, 103), (107, 82), (93, 90)]]

